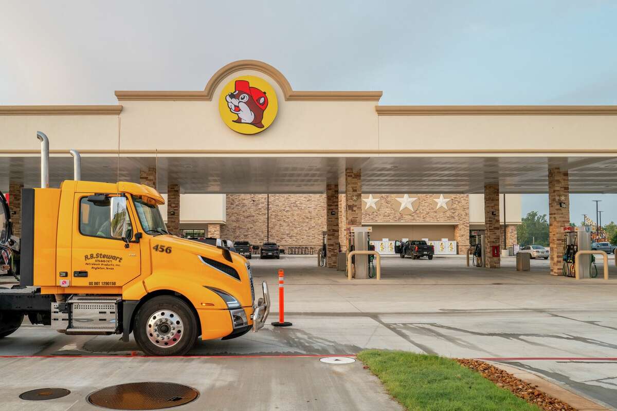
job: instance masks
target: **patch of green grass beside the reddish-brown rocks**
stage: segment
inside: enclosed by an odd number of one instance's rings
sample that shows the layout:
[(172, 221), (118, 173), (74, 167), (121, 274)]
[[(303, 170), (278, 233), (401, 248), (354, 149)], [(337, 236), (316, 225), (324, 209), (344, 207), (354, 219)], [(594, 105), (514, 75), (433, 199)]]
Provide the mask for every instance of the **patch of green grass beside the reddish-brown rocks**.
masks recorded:
[(410, 411), (539, 410), (452, 359), (376, 349), (358, 359)]

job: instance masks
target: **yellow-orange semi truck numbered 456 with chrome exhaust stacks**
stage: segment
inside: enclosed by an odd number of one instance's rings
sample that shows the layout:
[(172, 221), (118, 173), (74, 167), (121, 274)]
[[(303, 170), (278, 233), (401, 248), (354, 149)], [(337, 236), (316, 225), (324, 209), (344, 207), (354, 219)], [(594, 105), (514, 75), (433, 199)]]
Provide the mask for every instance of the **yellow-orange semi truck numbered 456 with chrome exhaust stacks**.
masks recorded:
[(255, 301), (251, 266), (224, 246), (167, 232), (164, 198), (151, 187), (75, 180), (49, 186), (41, 140), (41, 188), (22, 190), (22, 237), (11, 235), (0, 193), (0, 245), (19, 251), (20, 285), (0, 289), (0, 338), (27, 316), (67, 335), (132, 332), (148, 355), (185, 354), (202, 340), (257, 332), (270, 310)]

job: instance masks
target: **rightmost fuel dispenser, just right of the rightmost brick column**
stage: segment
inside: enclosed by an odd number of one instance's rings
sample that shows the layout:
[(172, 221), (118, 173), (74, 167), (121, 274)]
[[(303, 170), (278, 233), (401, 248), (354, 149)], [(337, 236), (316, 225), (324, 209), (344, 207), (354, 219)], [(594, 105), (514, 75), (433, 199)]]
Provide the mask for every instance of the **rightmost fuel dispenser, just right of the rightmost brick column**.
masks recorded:
[(576, 254), (582, 250), (591, 250), (591, 229), (589, 226), (563, 227), (563, 268), (561, 271), (567, 277), (576, 277), (576, 259), (581, 259), (579, 278), (589, 279), (591, 274), (592, 256)]

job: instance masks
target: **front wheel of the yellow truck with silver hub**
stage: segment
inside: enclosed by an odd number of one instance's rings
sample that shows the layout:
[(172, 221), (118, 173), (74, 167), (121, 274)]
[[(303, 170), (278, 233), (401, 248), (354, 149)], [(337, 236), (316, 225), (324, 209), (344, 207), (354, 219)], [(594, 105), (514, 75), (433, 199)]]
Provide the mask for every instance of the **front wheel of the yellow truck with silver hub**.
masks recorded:
[(197, 319), (180, 298), (162, 295), (139, 307), (133, 335), (146, 355), (181, 356), (197, 340)]

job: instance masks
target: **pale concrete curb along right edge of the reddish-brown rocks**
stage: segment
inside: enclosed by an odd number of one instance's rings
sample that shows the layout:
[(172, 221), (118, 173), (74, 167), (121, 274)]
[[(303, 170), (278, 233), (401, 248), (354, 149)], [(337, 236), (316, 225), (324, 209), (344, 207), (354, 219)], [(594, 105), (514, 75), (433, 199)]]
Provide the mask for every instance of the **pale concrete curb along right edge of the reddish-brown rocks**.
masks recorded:
[(569, 404), (571, 407), (576, 408), (578, 411), (611, 411), (612, 409), (600, 405), (597, 402), (590, 400), (589, 398), (582, 397), (579, 394), (573, 393), (560, 385), (552, 383), (546, 380), (544, 377), (531, 373), (521, 368), (516, 368), (511, 365), (504, 365), (500, 362), (486, 361), (488, 364), (493, 365), (496, 368), (500, 368), (507, 373), (520, 378), (526, 383), (531, 385), (537, 385), (537, 388), (544, 393), (549, 394), (556, 399)]

